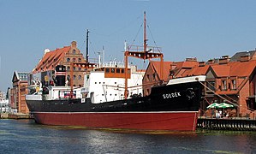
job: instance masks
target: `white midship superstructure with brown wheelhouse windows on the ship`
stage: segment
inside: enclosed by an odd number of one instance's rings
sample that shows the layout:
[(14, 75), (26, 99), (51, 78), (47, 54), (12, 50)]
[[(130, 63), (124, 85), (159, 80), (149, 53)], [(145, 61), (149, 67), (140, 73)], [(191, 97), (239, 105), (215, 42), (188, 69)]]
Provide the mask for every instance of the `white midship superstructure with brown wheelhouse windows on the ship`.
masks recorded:
[[(135, 66), (129, 66), (128, 98), (132, 95), (142, 95), (142, 79), (144, 71), (137, 71)], [(84, 78), (87, 98), (93, 104), (124, 99), (124, 66), (122, 63), (103, 64)]]

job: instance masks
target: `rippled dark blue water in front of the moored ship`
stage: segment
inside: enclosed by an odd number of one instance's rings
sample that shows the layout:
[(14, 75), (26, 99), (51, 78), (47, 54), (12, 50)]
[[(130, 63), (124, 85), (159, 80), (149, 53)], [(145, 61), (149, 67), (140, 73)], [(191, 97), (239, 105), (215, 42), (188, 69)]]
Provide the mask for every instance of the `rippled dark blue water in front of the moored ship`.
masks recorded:
[(0, 120), (0, 153), (256, 153), (256, 133), (131, 133)]

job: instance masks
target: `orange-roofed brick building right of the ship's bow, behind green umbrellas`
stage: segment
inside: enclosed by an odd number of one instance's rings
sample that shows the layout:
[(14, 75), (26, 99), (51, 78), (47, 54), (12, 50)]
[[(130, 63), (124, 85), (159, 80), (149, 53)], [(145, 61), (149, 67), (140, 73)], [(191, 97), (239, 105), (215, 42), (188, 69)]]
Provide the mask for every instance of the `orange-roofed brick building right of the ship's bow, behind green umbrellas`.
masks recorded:
[[(213, 102), (233, 104), (235, 114), (246, 116), (256, 112), (256, 58), (255, 51), (238, 52), (231, 58), (223, 56), (220, 59), (205, 62), (185, 73), (186, 76), (206, 75), (205, 100), (201, 110)], [(240, 57), (239, 57), (239, 56)]]

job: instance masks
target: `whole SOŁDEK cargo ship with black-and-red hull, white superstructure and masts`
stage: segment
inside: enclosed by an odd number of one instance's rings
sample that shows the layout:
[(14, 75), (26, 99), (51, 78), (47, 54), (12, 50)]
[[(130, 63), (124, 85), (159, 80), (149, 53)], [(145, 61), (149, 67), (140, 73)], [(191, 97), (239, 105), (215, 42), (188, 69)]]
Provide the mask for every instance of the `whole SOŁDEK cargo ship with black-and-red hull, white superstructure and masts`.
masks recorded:
[(83, 87), (73, 87), (72, 79), (67, 86), (67, 70), (62, 65), (55, 69), (57, 84), (39, 82), (28, 86), (26, 102), (34, 121), (93, 129), (195, 131), (205, 76), (160, 80), (145, 94), (145, 72), (129, 64), (128, 56), (143, 60), (160, 58), (160, 76), (164, 69), (163, 53), (155, 52), (158, 48), (148, 50), (146, 40), (144, 34), (142, 51), (125, 47), (125, 62), (72, 62), (70, 74), (74, 67), (87, 70)]

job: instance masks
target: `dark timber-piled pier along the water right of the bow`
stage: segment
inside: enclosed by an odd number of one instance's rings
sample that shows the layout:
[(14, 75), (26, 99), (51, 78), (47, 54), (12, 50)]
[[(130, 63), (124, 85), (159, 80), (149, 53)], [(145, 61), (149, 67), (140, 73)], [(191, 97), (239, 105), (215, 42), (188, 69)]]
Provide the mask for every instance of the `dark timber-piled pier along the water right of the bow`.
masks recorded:
[(232, 119), (199, 117), (197, 128), (212, 130), (256, 131), (256, 120), (239, 117)]

